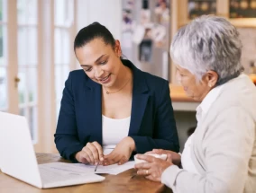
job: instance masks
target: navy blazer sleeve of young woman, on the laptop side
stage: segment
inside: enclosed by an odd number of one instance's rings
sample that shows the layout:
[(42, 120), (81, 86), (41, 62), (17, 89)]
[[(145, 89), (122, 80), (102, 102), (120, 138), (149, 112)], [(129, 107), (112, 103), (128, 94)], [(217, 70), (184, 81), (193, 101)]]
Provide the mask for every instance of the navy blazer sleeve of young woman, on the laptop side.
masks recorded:
[(69, 78), (66, 81), (65, 88), (63, 90), (54, 141), (57, 149), (59, 150), (59, 154), (62, 157), (69, 159), (72, 162), (77, 162), (77, 160), (74, 158), (74, 154), (79, 152), (84, 145), (78, 140), (71, 75), (72, 73), (69, 73)]

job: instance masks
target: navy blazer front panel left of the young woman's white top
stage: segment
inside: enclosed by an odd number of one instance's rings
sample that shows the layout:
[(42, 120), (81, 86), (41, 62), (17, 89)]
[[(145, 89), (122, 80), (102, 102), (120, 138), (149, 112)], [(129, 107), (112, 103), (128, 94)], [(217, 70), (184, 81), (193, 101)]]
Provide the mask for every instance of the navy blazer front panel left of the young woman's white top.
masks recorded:
[(85, 129), (90, 130), (89, 141), (102, 145), (102, 95), (101, 85), (88, 79), (85, 84)]

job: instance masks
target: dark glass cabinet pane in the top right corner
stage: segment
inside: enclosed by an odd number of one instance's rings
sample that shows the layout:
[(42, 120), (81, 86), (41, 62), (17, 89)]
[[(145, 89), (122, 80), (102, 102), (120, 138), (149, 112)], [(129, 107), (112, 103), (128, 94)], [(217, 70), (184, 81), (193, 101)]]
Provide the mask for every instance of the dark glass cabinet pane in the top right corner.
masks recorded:
[(256, 18), (256, 0), (230, 0), (230, 18)]

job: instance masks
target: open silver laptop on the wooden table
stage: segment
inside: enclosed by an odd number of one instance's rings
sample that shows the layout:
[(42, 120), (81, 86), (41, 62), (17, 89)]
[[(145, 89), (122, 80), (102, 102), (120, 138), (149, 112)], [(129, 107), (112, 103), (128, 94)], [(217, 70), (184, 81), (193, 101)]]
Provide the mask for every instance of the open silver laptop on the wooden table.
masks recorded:
[(18, 180), (40, 189), (63, 187), (105, 180), (95, 173), (74, 175), (69, 172), (41, 170), (33, 150), (26, 118), (0, 112), (0, 169)]

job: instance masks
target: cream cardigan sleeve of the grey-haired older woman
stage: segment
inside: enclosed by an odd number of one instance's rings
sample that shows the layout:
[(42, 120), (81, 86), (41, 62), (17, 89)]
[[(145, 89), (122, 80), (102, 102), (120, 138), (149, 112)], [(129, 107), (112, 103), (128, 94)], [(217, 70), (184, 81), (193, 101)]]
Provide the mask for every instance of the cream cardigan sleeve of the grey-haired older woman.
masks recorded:
[(202, 143), (206, 173), (172, 165), (163, 172), (161, 182), (182, 193), (243, 192), (254, 137), (253, 118), (242, 108), (230, 107), (211, 123)]

